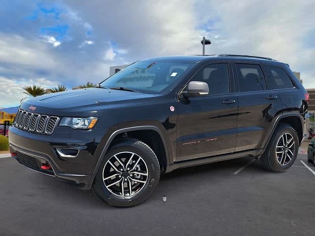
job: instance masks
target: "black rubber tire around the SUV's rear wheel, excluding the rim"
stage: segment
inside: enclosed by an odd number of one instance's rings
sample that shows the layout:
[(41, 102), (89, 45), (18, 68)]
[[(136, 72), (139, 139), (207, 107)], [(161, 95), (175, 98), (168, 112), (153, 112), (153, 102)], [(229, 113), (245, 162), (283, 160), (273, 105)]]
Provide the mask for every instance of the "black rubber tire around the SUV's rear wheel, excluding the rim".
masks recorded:
[[(287, 163), (286, 165), (282, 166), (279, 164), (278, 160), (277, 160), (277, 155), (276, 155), (276, 146), (278, 144), (279, 138), (284, 134), (284, 133), (289, 133), (292, 135), (293, 139), (294, 139), (294, 155), (293, 158), (291, 159), (291, 161), (289, 163)], [(268, 150), (269, 151), (269, 156), (273, 156), (274, 158), (271, 158), (271, 164), (274, 168), (276, 168), (278, 171), (280, 172), (284, 172), (287, 171), (288, 169), (290, 169), (292, 167), (292, 165), (294, 164), (296, 158), (297, 158), (297, 154), (298, 154), (298, 149), (299, 149), (299, 138), (298, 135), (296, 133), (296, 131), (290, 127), (287, 126), (284, 129), (281, 130), (281, 132), (278, 132), (278, 134), (275, 136), (274, 140), (273, 140), (273, 144), (271, 146), (271, 148)]]

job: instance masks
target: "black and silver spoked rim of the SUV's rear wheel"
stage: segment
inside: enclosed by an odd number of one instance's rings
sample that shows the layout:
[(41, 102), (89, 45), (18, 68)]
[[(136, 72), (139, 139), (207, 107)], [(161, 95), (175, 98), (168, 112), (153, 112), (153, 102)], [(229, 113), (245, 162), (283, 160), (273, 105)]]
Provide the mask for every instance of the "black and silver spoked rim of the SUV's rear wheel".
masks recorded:
[(284, 133), (276, 145), (277, 161), (280, 165), (288, 164), (294, 157), (295, 142), (290, 133)]

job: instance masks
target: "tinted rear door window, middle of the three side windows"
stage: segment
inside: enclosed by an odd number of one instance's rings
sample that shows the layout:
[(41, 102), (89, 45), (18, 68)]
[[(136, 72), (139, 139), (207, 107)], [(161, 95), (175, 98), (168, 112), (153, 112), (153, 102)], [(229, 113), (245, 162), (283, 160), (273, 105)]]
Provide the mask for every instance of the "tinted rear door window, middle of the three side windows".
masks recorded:
[(259, 65), (235, 64), (240, 92), (266, 90), (266, 82)]

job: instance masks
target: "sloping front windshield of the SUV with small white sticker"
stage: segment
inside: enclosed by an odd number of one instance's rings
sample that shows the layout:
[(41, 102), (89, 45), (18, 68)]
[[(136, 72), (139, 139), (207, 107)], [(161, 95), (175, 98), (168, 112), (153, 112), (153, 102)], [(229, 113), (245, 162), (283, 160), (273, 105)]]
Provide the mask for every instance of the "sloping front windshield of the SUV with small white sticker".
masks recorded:
[(169, 89), (194, 63), (138, 61), (112, 75), (100, 86), (158, 94)]

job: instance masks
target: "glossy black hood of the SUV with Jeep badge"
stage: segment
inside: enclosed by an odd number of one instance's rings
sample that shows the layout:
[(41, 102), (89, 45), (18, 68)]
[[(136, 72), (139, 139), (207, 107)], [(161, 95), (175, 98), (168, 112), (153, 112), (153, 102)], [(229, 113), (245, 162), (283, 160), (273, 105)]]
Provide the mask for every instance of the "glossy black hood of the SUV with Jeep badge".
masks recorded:
[[(34, 113), (58, 115), (63, 113), (94, 111), (104, 106), (128, 103), (147, 103), (154, 100), (153, 94), (102, 88), (76, 89), (45, 94), (25, 101), (21, 108)], [(31, 107), (32, 106), (32, 107)], [(35, 108), (34, 108), (35, 107)]]

